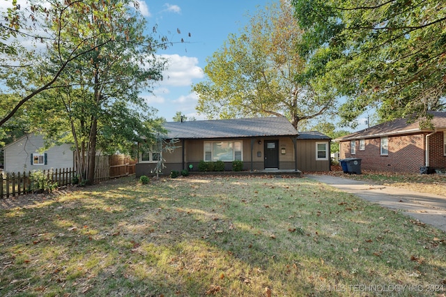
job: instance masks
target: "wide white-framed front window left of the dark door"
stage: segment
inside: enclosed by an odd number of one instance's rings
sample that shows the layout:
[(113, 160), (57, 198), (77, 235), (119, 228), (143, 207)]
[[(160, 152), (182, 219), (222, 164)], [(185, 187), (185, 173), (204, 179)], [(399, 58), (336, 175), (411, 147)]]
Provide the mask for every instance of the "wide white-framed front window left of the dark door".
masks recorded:
[(243, 160), (242, 142), (205, 142), (205, 161), (232, 162), (233, 160)]

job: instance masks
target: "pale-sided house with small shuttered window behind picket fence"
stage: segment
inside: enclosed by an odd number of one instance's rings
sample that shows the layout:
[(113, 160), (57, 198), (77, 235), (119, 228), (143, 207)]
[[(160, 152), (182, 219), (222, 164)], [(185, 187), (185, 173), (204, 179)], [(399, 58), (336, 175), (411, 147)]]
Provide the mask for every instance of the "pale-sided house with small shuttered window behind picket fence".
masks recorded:
[(74, 153), (70, 144), (52, 146), (39, 152), (45, 146), (42, 135), (24, 135), (3, 147), (4, 171), (22, 173), (33, 170), (74, 167)]

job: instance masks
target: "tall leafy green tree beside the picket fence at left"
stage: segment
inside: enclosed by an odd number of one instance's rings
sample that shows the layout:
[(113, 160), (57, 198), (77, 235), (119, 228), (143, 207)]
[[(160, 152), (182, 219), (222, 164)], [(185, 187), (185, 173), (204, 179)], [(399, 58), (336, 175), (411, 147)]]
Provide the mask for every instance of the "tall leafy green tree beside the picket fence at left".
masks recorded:
[(88, 183), (94, 181), (98, 148), (129, 151), (137, 137), (149, 139), (156, 126), (138, 95), (162, 78), (165, 61), (155, 51), (168, 40), (146, 35), (136, 4), (51, 2), (36, 21), (45, 28), (45, 47), (23, 49), (22, 58), (15, 56), (20, 67), (10, 65), (3, 72), (6, 91), (16, 99), (1, 111), (0, 123), (24, 109), (52, 142), (72, 141), (78, 172)]

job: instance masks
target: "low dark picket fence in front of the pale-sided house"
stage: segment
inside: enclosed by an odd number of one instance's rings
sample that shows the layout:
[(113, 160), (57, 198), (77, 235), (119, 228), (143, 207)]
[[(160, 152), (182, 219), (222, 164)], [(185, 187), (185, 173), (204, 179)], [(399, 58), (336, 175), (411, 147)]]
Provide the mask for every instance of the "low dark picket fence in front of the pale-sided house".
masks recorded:
[[(29, 192), (32, 172), (22, 174), (0, 174), (0, 199), (24, 195)], [(58, 186), (70, 185), (76, 176), (75, 169), (63, 168), (56, 170), (43, 170), (43, 174)]]

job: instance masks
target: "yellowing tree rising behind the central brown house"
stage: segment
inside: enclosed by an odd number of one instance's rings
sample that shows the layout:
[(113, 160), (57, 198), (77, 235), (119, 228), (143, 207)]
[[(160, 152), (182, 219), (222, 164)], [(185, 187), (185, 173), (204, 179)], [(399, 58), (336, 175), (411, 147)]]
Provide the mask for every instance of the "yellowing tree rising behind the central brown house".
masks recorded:
[(207, 59), (207, 80), (192, 86), (199, 113), (210, 119), (286, 116), (297, 128), (299, 121), (329, 111), (329, 93), (318, 94), (295, 79), (305, 61), (295, 50), (302, 30), (291, 8), (281, 0), (259, 10)]

